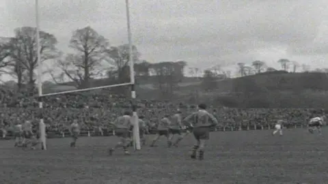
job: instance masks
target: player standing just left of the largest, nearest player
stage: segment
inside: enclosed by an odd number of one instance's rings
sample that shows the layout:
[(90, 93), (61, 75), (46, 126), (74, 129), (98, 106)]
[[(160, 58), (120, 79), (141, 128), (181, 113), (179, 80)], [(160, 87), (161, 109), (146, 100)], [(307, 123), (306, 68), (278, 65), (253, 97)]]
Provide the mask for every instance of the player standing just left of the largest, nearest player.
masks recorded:
[(174, 135), (178, 134), (178, 138), (174, 142), (173, 146), (178, 147), (178, 143), (183, 139), (182, 136), (182, 118), (181, 111), (177, 110), (176, 114), (173, 115), (172, 121), (169, 124), (169, 147), (172, 145)]

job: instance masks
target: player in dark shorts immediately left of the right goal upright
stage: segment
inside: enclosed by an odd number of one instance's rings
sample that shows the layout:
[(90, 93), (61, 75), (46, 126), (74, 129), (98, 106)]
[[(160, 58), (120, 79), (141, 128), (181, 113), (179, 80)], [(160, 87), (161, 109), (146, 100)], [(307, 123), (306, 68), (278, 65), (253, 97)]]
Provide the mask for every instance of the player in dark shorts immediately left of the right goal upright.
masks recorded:
[(127, 148), (128, 145), (131, 144), (132, 142), (130, 136), (130, 130), (133, 127), (131, 113), (124, 112), (124, 115), (122, 117), (118, 117), (118, 119), (116, 119), (112, 124), (115, 129), (115, 136), (120, 138), (120, 142), (118, 142), (118, 144), (116, 144), (115, 147), (109, 149), (109, 155), (112, 155), (113, 151), (115, 151), (115, 149), (118, 149), (120, 147), (123, 148), (125, 155), (130, 155)]

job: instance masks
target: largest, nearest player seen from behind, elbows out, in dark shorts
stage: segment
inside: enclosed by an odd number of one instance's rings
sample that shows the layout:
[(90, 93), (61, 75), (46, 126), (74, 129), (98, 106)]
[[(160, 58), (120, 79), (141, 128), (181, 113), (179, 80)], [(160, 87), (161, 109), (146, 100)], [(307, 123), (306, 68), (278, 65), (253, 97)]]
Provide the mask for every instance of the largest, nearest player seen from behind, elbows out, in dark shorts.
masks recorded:
[(189, 126), (193, 127), (193, 136), (195, 136), (197, 141), (191, 151), (191, 158), (196, 158), (198, 150), (198, 158), (200, 160), (204, 159), (204, 147), (206, 140), (210, 138), (210, 127), (218, 124), (217, 119), (206, 111), (206, 104), (199, 104), (198, 111), (190, 114), (183, 120), (183, 122), (188, 123)]

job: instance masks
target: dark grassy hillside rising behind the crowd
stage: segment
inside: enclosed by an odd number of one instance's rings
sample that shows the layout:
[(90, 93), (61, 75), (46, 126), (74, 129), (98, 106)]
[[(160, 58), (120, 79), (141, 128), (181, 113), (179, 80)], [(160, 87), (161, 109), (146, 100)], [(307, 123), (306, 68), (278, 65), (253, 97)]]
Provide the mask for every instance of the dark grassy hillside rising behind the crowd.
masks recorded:
[[(328, 107), (328, 76), (324, 73), (273, 72), (217, 80), (215, 89), (202, 90), (202, 78), (184, 77), (174, 99), (239, 107)], [(100, 82), (96, 80), (92, 83)], [(102, 81), (103, 82), (103, 81)], [(136, 78), (140, 98), (161, 98), (156, 76)], [(65, 84), (68, 85), (68, 84)], [(71, 85), (68, 85), (72, 89)], [(57, 86), (58, 87), (58, 86)], [(55, 88), (57, 88), (55, 87)], [(65, 87), (61, 86), (61, 90)], [(327, 105), (326, 105), (327, 104)]]

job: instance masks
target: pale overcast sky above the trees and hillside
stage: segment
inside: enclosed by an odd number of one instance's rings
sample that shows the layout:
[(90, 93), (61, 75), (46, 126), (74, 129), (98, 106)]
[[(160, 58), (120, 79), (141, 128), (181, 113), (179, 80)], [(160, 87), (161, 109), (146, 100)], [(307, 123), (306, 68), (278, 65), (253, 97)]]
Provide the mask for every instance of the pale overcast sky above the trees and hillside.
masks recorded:
[[(40, 27), (65, 50), (75, 29), (91, 26), (111, 46), (127, 42), (124, 0), (39, 0)], [(115, 3), (113, 3), (115, 2)], [(327, 0), (131, 1), (133, 43), (150, 62), (188, 61), (205, 69), (287, 58), (328, 67)], [(0, 35), (34, 26), (33, 0), (0, 1)]]

